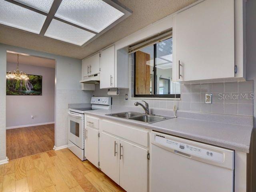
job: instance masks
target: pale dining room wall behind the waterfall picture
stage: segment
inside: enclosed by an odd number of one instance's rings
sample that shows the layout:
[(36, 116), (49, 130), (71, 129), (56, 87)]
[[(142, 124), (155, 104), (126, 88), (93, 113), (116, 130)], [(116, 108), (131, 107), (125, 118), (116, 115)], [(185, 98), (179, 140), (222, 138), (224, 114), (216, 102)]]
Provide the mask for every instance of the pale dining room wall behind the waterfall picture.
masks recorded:
[[(7, 63), (6, 72), (16, 67), (16, 63)], [(54, 122), (55, 68), (26, 64), (19, 64), (19, 68), (42, 76), (42, 96), (6, 96), (6, 128)]]

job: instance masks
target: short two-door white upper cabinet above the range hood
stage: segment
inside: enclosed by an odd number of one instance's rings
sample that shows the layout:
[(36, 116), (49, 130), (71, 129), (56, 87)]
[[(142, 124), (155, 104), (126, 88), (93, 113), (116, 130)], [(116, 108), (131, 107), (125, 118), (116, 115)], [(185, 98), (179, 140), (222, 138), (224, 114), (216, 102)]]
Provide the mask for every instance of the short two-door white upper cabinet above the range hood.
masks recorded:
[(82, 60), (82, 77), (100, 72), (100, 53)]

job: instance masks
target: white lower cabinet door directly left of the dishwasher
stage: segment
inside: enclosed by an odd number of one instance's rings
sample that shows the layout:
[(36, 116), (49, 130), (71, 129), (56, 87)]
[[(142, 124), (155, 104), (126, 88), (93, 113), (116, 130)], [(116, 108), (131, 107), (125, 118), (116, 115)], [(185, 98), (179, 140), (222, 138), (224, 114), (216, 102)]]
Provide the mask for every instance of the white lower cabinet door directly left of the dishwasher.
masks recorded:
[(148, 150), (120, 140), (120, 186), (127, 192), (148, 190)]

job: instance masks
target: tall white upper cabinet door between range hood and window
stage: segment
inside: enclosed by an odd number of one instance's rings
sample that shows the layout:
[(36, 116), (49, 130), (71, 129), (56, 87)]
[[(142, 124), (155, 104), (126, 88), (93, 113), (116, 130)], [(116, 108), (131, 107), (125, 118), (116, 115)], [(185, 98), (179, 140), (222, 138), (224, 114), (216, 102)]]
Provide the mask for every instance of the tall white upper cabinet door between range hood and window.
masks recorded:
[(101, 52), (100, 56), (100, 88), (114, 87), (115, 46)]

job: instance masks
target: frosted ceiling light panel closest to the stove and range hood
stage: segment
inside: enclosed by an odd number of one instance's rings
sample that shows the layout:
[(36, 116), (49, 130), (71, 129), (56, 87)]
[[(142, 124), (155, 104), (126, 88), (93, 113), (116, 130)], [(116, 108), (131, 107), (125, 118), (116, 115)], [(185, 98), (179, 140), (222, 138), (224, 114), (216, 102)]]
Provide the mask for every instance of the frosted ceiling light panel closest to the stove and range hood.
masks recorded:
[(82, 46), (95, 34), (53, 19), (44, 36)]

